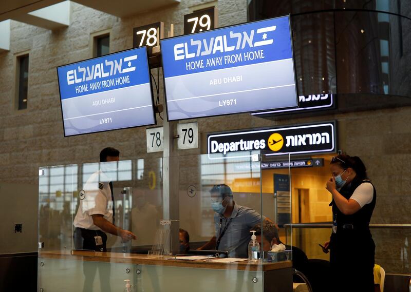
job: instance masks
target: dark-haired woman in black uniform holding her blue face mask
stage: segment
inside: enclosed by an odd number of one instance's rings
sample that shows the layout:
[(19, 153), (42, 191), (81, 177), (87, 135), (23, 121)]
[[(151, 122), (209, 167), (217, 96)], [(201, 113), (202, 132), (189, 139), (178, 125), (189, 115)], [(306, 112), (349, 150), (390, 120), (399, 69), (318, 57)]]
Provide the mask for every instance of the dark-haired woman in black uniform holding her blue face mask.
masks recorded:
[[(330, 241), (332, 291), (374, 291), (375, 244), (369, 222), (377, 191), (357, 156), (341, 154), (330, 164), (332, 178), (326, 189), (332, 195), (333, 225)], [(331, 291), (330, 290), (330, 291)]]

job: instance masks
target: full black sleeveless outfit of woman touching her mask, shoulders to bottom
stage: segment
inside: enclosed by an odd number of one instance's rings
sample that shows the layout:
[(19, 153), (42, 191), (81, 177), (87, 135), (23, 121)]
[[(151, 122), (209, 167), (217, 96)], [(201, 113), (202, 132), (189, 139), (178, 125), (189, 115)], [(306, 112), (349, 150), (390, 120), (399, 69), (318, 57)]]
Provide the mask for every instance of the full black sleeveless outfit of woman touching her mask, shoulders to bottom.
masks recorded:
[[(340, 193), (348, 200), (359, 185), (369, 182), (354, 178), (350, 184), (342, 187)], [(375, 243), (369, 230), (377, 199), (376, 188), (373, 189), (372, 202), (352, 215), (344, 215), (334, 201), (330, 204), (337, 223), (337, 233), (331, 234), (330, 241), (330, 264), (333, 275), (330, 291), (374, 290)]]

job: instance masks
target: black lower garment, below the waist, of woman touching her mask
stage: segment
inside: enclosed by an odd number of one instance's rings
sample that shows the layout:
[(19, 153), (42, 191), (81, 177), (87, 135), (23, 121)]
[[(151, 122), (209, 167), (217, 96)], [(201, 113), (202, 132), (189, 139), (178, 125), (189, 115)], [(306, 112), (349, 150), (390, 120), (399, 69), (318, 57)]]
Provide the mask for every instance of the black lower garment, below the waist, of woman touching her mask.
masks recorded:
[(332, 290), (373, 292), (374, 257), (369, 230), (338, 230), (330, 242)]

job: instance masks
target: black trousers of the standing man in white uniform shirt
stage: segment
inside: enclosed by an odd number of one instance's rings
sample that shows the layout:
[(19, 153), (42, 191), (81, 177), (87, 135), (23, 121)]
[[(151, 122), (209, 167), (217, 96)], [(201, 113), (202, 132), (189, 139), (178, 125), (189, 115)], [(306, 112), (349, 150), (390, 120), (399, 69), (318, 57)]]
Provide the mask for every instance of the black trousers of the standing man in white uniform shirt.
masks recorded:
[[(96, 245), (95, 236), (101, 236), (103, 240), (102, 245)], [(76, 249), (95, 250), (95, 251), (107, 251), (107, 235), (101, 230), (88, 230), (84, 228), (74, 229), (73, 234), (74, 247)], [(83, 274), (84, 284), (83, 292), (92, 291), (94, 285), (94, 279), (96, 278), (97, 269), (100, 275), (100, 291), (110, 292), (110, 263), (89, 262), (83, 261)]]

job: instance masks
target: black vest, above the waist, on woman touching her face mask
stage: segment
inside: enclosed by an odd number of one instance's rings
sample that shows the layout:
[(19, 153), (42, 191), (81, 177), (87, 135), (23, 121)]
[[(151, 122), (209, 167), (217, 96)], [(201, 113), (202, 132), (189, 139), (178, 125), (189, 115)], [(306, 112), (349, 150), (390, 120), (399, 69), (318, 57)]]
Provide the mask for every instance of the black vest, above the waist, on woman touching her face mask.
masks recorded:
[[(354, 190), (361, 185), (362, 183), (371, 183), (369, 180), (356, 180), (354, 179), (350, 184), (347, 184), (342, 187), (340, 193), (347, 200), (352, 196)], [(337, 234), (341, 233), (344, 229), (353, 229), (354, 231), (362, 231), (360, 234), (366, 236), (371, 235), (369, 231), (369, 222), (371, 220), (372, 212), (376, 206), (377, 200), (377, 191), (376, 188), (372, 185), (374, 189), (372, 202), (363, 206), (360, 210), (352, 215), (344, 215), (334, 200), (330, 203), (332, 205), (332, 214), (333, 219), (337, 221)], [(356, 232), (357, 233), (357, 232)]]

